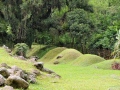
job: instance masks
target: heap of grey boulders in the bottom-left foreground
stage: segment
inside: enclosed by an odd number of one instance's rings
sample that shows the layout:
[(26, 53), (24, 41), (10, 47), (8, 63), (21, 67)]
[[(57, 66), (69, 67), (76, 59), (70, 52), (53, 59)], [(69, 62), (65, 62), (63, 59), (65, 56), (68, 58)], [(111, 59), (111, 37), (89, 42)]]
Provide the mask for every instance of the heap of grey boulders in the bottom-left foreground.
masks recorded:
[[(40, 75), (38, 70), (26, 72), (17, 66), (8, 66), (6, 63), (0, 65), (0, 86), (8, 85), (0, 90), (27, 89), (29, 83), (36, 83), (36, 76)], [(9, 88), (9, 89), (6, 89)]]

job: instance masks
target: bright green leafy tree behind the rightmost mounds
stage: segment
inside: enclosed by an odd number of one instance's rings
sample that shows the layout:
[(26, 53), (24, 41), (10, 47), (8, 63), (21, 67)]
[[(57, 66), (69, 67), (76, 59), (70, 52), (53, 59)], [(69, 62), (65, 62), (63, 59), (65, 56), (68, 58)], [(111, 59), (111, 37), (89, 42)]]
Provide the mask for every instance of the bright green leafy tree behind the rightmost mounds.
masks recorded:
[(113, 50), (113, 44), (116, 41), (116, 32), (117, 29), (111, 26), (105, 32), (94, 34), (94, 36), (91, 39), (92, 47)]

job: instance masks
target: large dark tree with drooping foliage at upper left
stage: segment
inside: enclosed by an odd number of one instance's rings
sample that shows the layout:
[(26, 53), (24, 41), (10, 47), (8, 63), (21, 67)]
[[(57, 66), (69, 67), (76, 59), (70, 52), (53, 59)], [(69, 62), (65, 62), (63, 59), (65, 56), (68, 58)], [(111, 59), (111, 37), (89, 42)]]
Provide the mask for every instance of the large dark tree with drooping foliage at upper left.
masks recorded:
[(61, 8), (59, 0), (4, 0), (1, 4), (4, 11), (1, 17), (11, 26), (14, 42), (25, 42), (29, 47), (34, 40), (34, 30), (43, 30), (41, 21), (50, 16), (53, 8)]

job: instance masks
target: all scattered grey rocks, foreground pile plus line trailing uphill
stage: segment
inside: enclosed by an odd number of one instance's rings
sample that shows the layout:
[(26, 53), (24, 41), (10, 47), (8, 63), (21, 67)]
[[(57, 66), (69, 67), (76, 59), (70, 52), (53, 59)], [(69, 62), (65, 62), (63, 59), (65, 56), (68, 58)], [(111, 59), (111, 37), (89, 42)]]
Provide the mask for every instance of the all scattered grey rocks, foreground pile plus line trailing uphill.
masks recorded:
[[(11, 50), (3, 45), (3, 48), (11, 55)], [(49, 74), (52, 78), (61, 78), (60, 75), (56, 74), (54, 71), (44, 67), (43, 62), (37, 62), (39, 59), (37, 56), (32, 56), (30, 59), (26, 59), (23, 56), (14, 56), (17, 59), (30, 61), (37, 68), (32, 72), (26, 72), (17, 66), (8, 66), (6, 63), (0, 65), (0, 90), (14, 90), (14, 89), (27, 89), (29, 84), (36, 83), (36, 77), (41, 75), (40, 71)], [(62, 58), (58, 56), (57, 59)], [(4, 87), (3, 87), (4, 86)]]

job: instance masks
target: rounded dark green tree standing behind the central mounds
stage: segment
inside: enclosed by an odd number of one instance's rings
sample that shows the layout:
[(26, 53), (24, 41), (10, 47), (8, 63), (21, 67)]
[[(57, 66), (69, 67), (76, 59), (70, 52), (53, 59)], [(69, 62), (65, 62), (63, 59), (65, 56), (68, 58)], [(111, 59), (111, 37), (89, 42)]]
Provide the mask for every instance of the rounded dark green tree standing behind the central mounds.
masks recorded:
[(67, 22), (69, 25), (70, 34), (72, 37), (72, 47), (79, 44), (83, 52), (86, 52), (85, 47), (88, 35), (91, 35), (92, 22), (88, 17), (88, 13), (83, 9), (75, 9), (67, 13)]

